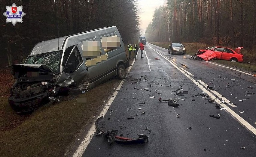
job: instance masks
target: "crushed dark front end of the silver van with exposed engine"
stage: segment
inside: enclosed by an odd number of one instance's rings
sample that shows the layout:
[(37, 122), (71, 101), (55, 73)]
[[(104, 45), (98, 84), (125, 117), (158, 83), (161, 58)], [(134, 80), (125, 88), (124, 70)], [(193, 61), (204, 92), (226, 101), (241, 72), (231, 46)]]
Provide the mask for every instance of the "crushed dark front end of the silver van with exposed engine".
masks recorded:
[(57, 75), (46, 65), (16, 64), (11, 67), (11, 73), (17, 80), (11, 87), (8, 101), (16, 113), (34, 111), (50, 102), (51, 97), (60, 94), (62, 87), (74, 83), (67, 74)]

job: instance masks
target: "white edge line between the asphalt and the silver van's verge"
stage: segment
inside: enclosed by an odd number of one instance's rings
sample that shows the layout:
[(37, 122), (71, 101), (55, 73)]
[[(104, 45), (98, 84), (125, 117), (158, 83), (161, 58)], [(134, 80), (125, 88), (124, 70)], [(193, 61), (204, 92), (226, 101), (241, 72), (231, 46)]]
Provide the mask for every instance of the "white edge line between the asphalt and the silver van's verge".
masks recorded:
[[(135, 60), (133, 60), (133, 63), (131, 65), (133, 65), (135, 62)], [(131, 68), (133, 66), (130, 66), (128, 69), (128, 72), (130, 72)], [(116, 90), (114, 91), (113, 95), (109, 98), (107, 104), (104, 106), (103, 110), (100, 112), (99, 117), (101, 117), (102, 115), (105, 116), (105, 114), (107, 113), (108, 109), (110, 108), (110, 105), (112, 104), (112, 102), (114, 101), (118, 91), (120, 90), (120, 88), (123, 85), (124, 80), (122, 80), (120, 82), (120, 84), (117, 86)], [(81, 157), (85, 151), (85, 149), (87, 148), (88, 144), (90, 143), (90, 141), (93, 138), (93, 135), (96, 132), (96, 126), (95, 126), (95, 121), (93, 122), (93, 125), (91, 126), (91, 128), (89, 129), (87, 135), (84, 137), (82, 143), (79, 145), (79, 147), (77, 148), (77, 150), (75, 151), (75, 153), (73, 154), (73, 157)]]

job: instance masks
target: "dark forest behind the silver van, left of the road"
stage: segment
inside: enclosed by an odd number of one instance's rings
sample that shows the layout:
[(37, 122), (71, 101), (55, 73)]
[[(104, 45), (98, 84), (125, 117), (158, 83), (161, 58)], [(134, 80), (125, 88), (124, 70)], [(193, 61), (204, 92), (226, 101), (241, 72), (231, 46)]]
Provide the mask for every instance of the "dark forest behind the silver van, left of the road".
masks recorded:
[[(15, 1), (1, 0), (0, 12)], [(13, 26), (0, 16), (0, 66), (24, 62), (33, 46), (44, 40), (92, 29), (117, 26), (123, 40), (139, 37), (136, 0), (17, 1), (23, 6), (23, 23)]]

